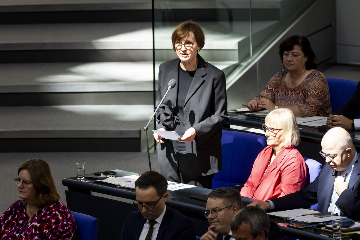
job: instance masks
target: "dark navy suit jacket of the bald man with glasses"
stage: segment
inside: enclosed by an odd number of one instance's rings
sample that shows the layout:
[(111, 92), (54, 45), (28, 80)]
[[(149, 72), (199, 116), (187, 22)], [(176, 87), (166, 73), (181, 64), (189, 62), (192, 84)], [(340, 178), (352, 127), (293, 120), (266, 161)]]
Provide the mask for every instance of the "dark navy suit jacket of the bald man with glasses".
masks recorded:
[[(360, 220), (360, 154), (350, 176), (349, 187), (340, 194), (336, 205), (341, 209), (340, 215)], [(332, 196), (337, 171), (325, 164), (319, 176), (300, 191), (281, 198), (271, 199), (276, 210), (305, 208), (318, 203), (318, 210), (327, 212)]]

